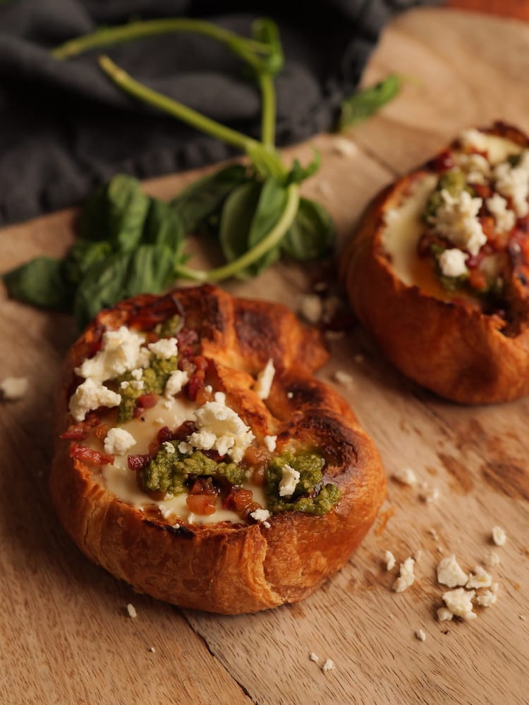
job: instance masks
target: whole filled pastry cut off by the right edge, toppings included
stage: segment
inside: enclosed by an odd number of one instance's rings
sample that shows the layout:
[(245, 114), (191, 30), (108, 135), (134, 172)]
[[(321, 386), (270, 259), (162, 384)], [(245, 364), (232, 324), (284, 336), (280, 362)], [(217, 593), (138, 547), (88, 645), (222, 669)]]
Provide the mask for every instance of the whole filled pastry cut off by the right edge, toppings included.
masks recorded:
[(470, 128), (385, 188), (340, 277), (358, 319), (406, 376), (461, 403), (529, 392), (529, 140)]

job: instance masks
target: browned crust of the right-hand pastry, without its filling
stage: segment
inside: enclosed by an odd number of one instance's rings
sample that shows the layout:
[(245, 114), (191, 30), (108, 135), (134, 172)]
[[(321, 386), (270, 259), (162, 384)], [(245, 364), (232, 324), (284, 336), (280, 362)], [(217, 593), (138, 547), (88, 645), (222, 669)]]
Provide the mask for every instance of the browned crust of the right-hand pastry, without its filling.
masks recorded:
[[(476, 129), (529, 148), (529, 137), (512, 125), (497, 121)], [(450, 145), (456, 143), (457, 138)], [(434, 159), (388, 185), (368, 204), (341, 252), (341, 286), (384, 355), (421, 386), (465, 404), (520, 398), (529, 393), (529, 302), (521, 302), (518, 334), (506, 336), (494, 314), (406, 285), (383, 255), (384, 211), (415, 175), (431, 173), (427, 165)]]

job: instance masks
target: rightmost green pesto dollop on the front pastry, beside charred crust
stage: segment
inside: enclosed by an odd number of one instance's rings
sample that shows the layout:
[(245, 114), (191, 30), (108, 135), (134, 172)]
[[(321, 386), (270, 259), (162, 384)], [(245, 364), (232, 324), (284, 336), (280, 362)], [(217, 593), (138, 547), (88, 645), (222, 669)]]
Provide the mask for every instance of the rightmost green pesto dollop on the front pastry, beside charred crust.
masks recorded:
[[(265, 473), (265, 495), (268, 509), (273, 514), (279, 512), (305, 512), (322, 516), (327, 514), (341, 497), (341, 491), (332, 483), (323, 484), (322, 468), (324, 458), (316, 453), (283, 453), (272, 458)], [(292, 496), (279, 496), (279, 483), (283, 470), (290, 465), (300, 474)]]

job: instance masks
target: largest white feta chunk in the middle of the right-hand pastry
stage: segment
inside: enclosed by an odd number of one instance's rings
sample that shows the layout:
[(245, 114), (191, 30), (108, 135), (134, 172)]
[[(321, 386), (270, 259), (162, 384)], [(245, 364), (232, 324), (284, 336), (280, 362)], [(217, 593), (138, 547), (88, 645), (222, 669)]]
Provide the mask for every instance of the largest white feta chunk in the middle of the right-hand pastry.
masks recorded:
[(452, 196), (443, 189), (441, 196), (443, 202), (430, 218), (434, 230), (456, 247), (467, 250), (470, 255), (477, 255), (487, 242), (487, 235), (477, 217), (483, 200), (473, 198), (468, 191)]

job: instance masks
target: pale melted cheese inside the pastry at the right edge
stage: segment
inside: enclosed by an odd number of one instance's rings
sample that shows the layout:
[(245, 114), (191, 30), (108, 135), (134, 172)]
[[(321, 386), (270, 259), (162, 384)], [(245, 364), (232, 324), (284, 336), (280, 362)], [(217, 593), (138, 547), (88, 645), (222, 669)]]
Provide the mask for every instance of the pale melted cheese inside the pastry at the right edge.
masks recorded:
[[(485, 135), (487, 144), (487, 161), (499, 164), (512, 154), (520, 154), (522, 148), (511, 140), (497, 135)], [(384, 229), (382, 231), (382, 246), (389, 255), (394, 274), (406, 286), (417, 286), (422, 293), (442, 300), (464, 300), (478, 306), (479, 300), (472, 293), (458, 289), (446, 290), (437, 277), (434, 276), (432, 262), (429, 257), (421, 259), (417, 254), (417, 244), (426, 226), (422, 220), (427, 200), (437, 185), (438, 175), (425, 173), (411, 186), (411, 191), (403, 196), (396, 206), (384, 211)], [(491, 262), (487, 262), (491, 259)], [(490, 274), (497, 269), (501, 258), (496, 255), (487, 257), (480, 269)]]

